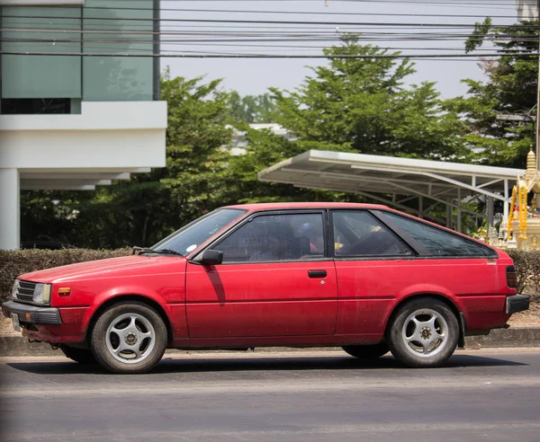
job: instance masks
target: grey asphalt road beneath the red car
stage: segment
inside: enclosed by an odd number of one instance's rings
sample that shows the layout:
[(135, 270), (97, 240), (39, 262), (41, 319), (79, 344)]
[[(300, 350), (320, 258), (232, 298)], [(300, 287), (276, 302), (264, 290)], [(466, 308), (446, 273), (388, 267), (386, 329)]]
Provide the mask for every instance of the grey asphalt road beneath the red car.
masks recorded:
[(540, 440), (540, 349), (459, 351), (437, 369), (196, 353), (140, 376), (0, 358), (0, 376), (4, 441)]

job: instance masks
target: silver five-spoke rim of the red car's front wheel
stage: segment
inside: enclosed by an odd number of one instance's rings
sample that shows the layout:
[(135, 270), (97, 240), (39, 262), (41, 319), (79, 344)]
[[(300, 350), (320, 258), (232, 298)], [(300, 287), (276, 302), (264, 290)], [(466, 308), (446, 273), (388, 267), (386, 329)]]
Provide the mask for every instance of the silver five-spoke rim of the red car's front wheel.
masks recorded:
[(106, 342), (112, 358), (124, 364), (137, 364), (152, 353), (156, 331), (141, 314), (121, 314), (109, 325)]

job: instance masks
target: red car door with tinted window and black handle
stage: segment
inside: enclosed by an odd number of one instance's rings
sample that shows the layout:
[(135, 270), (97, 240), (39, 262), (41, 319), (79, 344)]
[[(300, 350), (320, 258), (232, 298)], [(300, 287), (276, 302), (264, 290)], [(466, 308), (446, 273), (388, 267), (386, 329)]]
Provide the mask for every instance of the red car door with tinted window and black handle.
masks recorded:
[(190, 338), (334, 333), (337, 280), (325, 225), (322, 210), (258, 213), (211, 244), (222, 264), (188, 263)]

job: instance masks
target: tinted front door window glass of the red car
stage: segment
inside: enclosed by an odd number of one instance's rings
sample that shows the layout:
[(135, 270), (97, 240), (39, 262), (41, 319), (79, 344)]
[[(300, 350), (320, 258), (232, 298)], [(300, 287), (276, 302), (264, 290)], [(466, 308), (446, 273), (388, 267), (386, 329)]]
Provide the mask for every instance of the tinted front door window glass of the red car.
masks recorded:
[(322, 214), (262, 215), (213, 248), (223, 262), (309, 261), (324, 257)]

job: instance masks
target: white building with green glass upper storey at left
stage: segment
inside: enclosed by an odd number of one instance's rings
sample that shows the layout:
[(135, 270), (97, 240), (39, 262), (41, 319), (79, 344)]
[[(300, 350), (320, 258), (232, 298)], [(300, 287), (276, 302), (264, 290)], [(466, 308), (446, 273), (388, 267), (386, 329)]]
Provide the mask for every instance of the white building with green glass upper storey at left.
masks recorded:
[(0, 0), (0, 249), (19, 247), (20, 190), (93, 190), (165, 166), (158, 57), (117, 56), (158, 52), (158, 10)]

